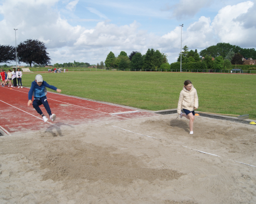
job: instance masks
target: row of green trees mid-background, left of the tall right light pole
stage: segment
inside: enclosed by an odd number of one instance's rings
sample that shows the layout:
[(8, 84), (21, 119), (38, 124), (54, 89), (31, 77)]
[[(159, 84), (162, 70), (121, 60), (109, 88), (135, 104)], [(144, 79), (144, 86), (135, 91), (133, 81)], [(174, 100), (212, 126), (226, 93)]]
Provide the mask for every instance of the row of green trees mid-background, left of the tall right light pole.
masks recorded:
[(158, 70), (169, 68), (167, 56), (159, 50), (148, 49), (147, 53), (133, 51), (127, 56), (121, 51), (119, 56), (110, 52), (105, 60), (106, 68), (119, 68), (120, 70), (130, 68), (132, 70)]

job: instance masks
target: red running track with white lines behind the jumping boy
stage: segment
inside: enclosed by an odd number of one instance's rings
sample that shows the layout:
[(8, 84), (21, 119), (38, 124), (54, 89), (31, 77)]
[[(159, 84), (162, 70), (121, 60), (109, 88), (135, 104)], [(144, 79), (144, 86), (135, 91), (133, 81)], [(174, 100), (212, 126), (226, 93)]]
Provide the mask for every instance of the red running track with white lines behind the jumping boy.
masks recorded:
[(52, 114), (56, 114), (56, 120), (52, 122), (44, 105), (41, 105), (42, 112), (49, 119), (44, 122), (32, 105), (27, 106), (29, 89), (0, 87), (0, 92), (0, 129), (2, 133), (9, 135), (52, 130), (64, 126), (74, 127), (90, 123), (148, 118), (156, 115), (118, 105), (48, 92), (47, 100)]

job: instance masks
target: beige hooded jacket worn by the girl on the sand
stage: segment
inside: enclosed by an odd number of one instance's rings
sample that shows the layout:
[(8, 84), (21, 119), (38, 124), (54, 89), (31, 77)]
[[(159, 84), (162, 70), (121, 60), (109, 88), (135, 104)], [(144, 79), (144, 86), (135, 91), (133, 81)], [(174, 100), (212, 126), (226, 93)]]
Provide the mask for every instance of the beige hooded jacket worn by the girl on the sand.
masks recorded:
[(194, 111), (194, 108), (198, 108), (197, 90), (193, 85), (190, 91), (183, 87), (182, 91), (180, 92), (177, 113), (180, 114), (183, 108), (189, 111)]

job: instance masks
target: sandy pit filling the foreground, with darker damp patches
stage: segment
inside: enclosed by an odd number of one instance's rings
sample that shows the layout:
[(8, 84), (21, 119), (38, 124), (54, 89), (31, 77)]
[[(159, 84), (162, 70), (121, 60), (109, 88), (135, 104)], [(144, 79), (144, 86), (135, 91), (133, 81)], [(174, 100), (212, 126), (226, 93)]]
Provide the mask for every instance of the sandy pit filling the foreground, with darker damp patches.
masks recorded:
[(256, 203), (256, 126), (198, 116), (190, 135), (188, 122), (0, 137), (0, 203)]

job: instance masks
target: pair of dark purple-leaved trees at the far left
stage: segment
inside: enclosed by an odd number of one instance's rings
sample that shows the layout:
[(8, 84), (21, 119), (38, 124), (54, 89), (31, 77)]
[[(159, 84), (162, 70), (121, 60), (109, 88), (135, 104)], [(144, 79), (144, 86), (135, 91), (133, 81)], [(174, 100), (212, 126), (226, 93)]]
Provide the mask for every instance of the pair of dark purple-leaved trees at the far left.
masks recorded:
[[(47, 65), (51, 59), (44, 42), (38, 40), (27, 39), (27, 41), (17, 45), (17, 61), (18, 63)], [(10, 63), (16, 61), (15, 47), (10, 45), (0, 45), (0, 63)]]

